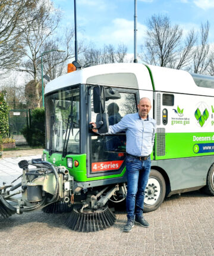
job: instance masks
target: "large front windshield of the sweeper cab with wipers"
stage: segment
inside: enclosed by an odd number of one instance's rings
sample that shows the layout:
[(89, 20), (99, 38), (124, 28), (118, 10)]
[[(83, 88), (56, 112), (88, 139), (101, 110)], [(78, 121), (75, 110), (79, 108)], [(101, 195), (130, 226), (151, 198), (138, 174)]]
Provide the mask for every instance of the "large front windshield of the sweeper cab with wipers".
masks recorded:
[(80, 89), (59, 90), (45, 98), (46, 148), (80, 153)]

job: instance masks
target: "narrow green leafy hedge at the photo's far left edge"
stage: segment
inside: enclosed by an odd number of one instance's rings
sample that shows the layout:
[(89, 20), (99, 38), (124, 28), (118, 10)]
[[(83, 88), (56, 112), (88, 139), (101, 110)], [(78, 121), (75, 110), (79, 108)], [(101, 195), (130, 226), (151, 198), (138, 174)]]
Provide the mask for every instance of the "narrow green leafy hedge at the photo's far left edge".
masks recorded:
[(4, 93), (0, 92), (0, 138), (9, 136), (8, 112), (9, 108), (4, 99)]

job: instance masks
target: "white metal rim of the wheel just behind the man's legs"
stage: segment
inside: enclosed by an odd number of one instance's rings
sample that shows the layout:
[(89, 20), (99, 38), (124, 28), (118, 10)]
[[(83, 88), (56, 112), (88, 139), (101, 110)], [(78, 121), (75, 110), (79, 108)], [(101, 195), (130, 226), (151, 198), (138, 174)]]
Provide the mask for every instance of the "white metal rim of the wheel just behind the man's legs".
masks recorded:
[(155, 177), (149, 177), (148, 183), (145, 189), (144, 204), (154, 205), (158, 202), (161, 195), (161, 183)]

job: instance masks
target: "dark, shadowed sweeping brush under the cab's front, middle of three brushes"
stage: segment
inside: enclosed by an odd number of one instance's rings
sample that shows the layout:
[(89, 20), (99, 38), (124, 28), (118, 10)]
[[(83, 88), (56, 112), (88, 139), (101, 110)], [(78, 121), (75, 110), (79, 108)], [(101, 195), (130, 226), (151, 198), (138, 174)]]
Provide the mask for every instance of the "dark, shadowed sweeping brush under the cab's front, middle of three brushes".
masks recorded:
[(70, 213), (73, 210), (72, 205), (68, 205), (66, 202), (57, 201), (53, 204), (49, 204), (46, 207), (42, 208), (44, 213)]

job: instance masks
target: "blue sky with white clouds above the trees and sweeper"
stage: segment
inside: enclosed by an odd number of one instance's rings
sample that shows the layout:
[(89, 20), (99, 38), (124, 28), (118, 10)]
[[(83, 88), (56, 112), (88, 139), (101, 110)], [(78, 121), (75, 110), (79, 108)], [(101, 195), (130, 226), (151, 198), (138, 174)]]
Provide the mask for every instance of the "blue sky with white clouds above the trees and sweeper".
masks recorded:
[[(62, 24), (74, 26), (74, 0), (52, 0), (63, 14)], [(94, 43), (97, 48), (119, 43), (134, 52), (134, 0), (76, 0), (77, 40)], [(172, 25), (179, 24), (184, 35), (210, 23), (209, 42), (214, 42), (214, 0), (137, 0), (137, 51), (143, 44), (147, 20), (153, 14), (168, 15)]]

